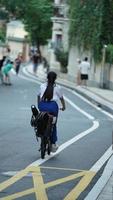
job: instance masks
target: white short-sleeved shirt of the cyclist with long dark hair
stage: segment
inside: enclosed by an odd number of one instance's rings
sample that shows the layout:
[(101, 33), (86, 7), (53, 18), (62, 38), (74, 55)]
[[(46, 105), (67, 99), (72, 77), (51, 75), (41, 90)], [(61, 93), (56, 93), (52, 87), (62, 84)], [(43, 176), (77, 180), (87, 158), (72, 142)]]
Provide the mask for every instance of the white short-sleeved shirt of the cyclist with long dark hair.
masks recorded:
[[(40, 86), (40, 91), (39, 91), (39, 94), (38, 94), (40, 96), (40, 98), (42, 98), (46, 88), (47, 88), (47, 83), (43, 83)], [(53, 99), (52, 100), (58, 101), (62, 96), (63, 96), (63, 94), (62, 94), (61, 87), (59, 85), (55, 84), (54, 90), (53, 90)]]

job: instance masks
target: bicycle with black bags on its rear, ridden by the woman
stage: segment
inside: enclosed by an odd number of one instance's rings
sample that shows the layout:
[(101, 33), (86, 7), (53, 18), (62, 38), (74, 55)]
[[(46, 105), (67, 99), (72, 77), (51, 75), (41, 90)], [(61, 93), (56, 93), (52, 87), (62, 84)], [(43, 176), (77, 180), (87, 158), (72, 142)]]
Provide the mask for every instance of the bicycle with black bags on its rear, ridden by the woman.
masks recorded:
[(39, 112), (35, 105), (31, 106), (32, 117), (31, 126), (34, 127), (36, 139), (41, 139), (40, 149), (41, 158), (45, 158), (45, 154), (50, 155), (52, 150), (51, 135), (54, 125), (56, 123), (56, 117), (48, 112)]

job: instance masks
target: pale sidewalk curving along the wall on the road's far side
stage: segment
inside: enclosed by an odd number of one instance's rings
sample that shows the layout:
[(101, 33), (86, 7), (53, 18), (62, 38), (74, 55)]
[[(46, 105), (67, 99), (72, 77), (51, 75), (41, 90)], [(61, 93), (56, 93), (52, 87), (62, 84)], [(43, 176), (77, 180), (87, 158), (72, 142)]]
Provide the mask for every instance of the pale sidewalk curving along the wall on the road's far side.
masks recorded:
[[(28, 65), (28, 72), (33, 74), (32, 65)], [(46, 80), (46, 72), (44, 72), (43, 66), (40, 65), (36, 74), (39, 80)], [(67, 75), (60, 73), (57, 78), (57, 83), (62, 86), (66, 86), (70, 89), (75, 90), (82, 96), (89, 99), (91, 102), (101, 106), (106, 111), (113, 114), (113, 91), (95, 87), (82, 87), (78, 86), (75, 82), (71, 82), (67, 79)]]

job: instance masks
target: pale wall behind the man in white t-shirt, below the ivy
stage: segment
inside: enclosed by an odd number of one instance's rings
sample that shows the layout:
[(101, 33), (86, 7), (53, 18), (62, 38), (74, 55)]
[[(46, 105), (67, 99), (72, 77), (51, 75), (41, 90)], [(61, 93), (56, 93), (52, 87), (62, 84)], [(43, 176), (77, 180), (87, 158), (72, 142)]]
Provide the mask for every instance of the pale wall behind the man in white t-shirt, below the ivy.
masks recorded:
[(88, 85), (113, 89), (113, 66), (105, 63), (103, 69), (102, 63), (95, 65), (90, 52), (79, 51), (76, 47), (72, 47), (69, 52), (68, 79), (77, 83), (77, 59), (83, 60), (85, 56), (88, 56), (91, 64)]

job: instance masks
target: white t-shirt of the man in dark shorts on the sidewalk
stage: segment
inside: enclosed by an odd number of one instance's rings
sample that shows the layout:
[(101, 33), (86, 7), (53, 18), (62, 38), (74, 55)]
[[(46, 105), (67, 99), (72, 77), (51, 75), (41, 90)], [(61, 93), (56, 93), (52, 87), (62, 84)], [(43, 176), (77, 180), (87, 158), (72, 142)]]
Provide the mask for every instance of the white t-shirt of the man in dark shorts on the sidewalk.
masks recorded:
[(87, 62), (87, 61), (82, 61), (82, 62), (80, 63), (79, 68), (80, 68), (81, 74), (88, 74), (89, 69), (90, 69), (90, 64), (89, 64), (89, 62)]

